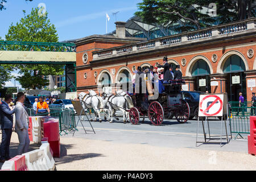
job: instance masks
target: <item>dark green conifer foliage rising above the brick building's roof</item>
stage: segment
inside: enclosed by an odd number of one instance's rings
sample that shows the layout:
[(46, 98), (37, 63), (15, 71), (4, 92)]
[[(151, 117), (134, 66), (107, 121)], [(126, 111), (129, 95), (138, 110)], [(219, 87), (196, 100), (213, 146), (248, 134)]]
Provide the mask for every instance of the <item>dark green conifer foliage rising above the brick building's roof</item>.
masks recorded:
[[(217, 18), (201, 11), (210, 3), (217, 6)], [(143, 0), (137, 5), (140, 11), (135, 15), (146, 23), (180, 23), (181, 31), (208, 27), (216, 20), (217, 23), (229, 23), (255, 16), (255, 0)]]

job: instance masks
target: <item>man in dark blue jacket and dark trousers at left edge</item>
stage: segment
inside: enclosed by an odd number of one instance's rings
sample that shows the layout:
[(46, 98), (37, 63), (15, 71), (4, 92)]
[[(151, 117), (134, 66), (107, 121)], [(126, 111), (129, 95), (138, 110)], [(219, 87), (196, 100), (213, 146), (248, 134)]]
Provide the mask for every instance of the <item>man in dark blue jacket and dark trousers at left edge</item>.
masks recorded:
[(2, 129), (2, 143), (1, 143), (1, 158), (0, 162), (4, 163), (5, 160), (10, 158), (10, 142), (11, 134), (13, 132), (13, 114), (14, 110), (9, 107), (10, 102), (13, 99), (11, 95), (6, 94), (5, 101), (0, 105), (0, 115), (1, 115), (1, 129)]

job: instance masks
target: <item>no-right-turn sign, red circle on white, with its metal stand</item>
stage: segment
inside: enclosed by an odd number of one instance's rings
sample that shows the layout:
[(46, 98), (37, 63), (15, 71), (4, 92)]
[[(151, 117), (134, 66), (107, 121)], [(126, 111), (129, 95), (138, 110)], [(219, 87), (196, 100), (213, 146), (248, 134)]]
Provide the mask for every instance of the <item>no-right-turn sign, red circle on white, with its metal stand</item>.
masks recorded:
[[(199, 100), (199, 115), (197, 119), (197, 131), (196, 131), (196, 147), (197, 143), (220, 143), (222, 144), (222, 122), (225, 122), (226, 129), (226, 117), (227, 117), (227, 108), (225, 107), (228, 104), (228, 96), (226, 93), (222, 94), (201, 94)], [(221, 117), (221, 138), (211, 138), (210, 137), (210, 127), (209, 127), (209, 117)], [(204, 127), (204, 119), (208, 125), (209, 138), (207, 138), (207, 133)], [(224, 119), (223, 119), (224, 118)], [(199, 129), (199, 119), (202, 121), (203, 132), (204, 132), (204, 142), (197, 141), (198, 129)], [(209, 139), (207, 141), (207, 139)], [(210, 142), (213, 139), (220, 139), (220, 142)], [(228, 132), (226, 129), (226, 140), (229, 143)]]

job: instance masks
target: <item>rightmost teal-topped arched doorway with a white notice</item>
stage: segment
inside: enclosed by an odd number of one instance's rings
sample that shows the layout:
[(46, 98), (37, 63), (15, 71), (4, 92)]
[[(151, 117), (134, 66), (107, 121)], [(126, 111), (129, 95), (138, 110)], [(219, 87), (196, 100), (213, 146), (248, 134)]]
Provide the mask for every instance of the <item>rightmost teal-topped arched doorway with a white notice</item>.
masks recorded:
[[(226, 78), (226, 92), (229, 101), (239, 101), (239, 93), (246, 96), (246, 70), (243, 60), (238, 55), (229, 56), (223, 67), (223, 73)], [(246, 97), (245, 97), (246, 98)]]

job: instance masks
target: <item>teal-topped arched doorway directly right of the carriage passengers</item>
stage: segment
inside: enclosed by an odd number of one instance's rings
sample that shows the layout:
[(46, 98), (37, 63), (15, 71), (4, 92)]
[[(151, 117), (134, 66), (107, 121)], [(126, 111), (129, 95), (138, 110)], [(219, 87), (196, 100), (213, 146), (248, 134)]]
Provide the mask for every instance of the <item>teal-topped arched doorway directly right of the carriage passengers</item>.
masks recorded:
[(195, 77), (194, 89), (196, 91), (210, 93), (210, 68), (207, 62), (199, 59), (193, 65), (191, 76)]

